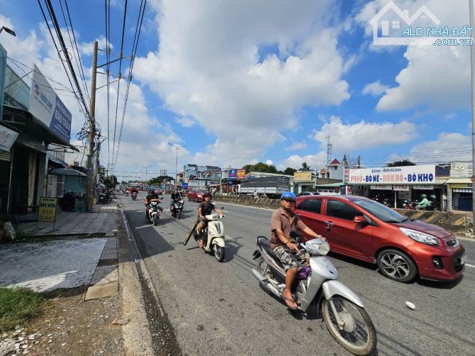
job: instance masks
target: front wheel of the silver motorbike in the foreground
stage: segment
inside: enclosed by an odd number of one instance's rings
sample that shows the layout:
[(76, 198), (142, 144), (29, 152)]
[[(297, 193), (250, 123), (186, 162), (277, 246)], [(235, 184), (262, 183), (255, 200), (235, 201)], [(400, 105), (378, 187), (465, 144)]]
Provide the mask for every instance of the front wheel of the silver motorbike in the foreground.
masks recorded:
[[(330, 301), (333, 301), (335, 310), (344, 323), (341, 330)], [(328, 301), (323, 300), (322, 314), (328, 331), (342, 347), (354, 355), (370, 355), (374, 352), (377, 343), (376, 329), (364, 308), (342, 296), (333, 296)]]

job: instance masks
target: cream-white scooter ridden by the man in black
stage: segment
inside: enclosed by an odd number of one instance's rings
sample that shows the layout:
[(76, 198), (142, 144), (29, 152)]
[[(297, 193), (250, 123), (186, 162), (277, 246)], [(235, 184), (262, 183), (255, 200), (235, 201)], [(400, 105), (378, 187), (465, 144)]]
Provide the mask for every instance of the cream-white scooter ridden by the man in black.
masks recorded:
[[(222, 218), (223, 216), (218, 213), (206, 215), (206, 226), (203, 228), (203, 250), (208, 253), (214, 252), (218, 262), (223, 262), (224, 259), (224, 225), (219, 221)], [(193, 237), (198, 243), (198, 228), (194, 230)]]

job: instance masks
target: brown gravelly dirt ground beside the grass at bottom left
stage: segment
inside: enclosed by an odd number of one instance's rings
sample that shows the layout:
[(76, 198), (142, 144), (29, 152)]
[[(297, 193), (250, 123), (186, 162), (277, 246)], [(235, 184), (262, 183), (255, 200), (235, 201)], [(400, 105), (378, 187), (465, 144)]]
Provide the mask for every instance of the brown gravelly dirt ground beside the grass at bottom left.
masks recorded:
[(84, 301), (85, 291), (57, 294), (28, 326), (0, 335), (14, 347), (4, 355), (125, 355), (122, 326), (112, 323), (121, 318), (118, 296)]

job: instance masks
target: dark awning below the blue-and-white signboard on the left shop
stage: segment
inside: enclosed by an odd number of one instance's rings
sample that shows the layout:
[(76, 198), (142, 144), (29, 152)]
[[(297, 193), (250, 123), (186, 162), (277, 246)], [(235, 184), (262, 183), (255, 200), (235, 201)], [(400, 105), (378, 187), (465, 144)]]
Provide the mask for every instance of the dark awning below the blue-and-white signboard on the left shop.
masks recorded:
[(26, 133), (34, 138), (45, 141), (45, 143), (54, 143), (74, 151), (79, 150), (69, 142), (57, 137), (50, 129), (38, 118), (35, 118), (29, 111), (13, 108), (13, 106), (4, 105), (3, 121), (6, 126), (11, 126), (21, 133)]

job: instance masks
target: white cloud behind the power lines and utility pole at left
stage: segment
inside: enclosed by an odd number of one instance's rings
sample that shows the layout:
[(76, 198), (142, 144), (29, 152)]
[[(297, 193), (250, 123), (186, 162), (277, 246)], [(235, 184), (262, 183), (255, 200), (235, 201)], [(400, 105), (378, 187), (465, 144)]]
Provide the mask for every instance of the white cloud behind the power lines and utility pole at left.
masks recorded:
[[(11, 26), (11, 21), (9, 18), (2, 16), (0, 14), (0, 23), (2, 26)], [(19, 32), (19, 31), (18, 31)], [(79, 38), (79, 33), (77, 33), (77, 39)], [(2, 45), (8, 51), (9, 57), (12, 57), (15, 60), (19, 60), (28, 67), (33, 67), (33, 63), (36, 63), (40, 68), (41, 72), (45, 74), (48, 78), (48, 82), (52, 85), (53, 88), (60, 87), (60, 84), (55, 84), (52, 80), (60, 82), (69, 87), (69, 81), (66, 77), (65, 70), (62, 67), (62, 63), (57, 56), (56, 49), (52, 44), (50, 39), (50, 33), (45, 27), (44, 23), (41, 23), (39, 30), (31, 30), (29, 35), (26, 38), (21, 38), (13, 36), (3, 36), (2, 33)], [(90, 44), (78, 43), (79, 48), (89, 48)], [(90, 58), (89, 58), (90, 61)], [(84, 61), (82, 58), (82, 63), (84, 65), (84, 73), (90, 74), (91, 69), (87, 68), (86, 65), (89, 61)], [(12, 62), (9, 62), (9, 65), (15, 70), (18, 74), (23, 74), (21, 69), (13, 65)], [(26, 67), (23, 67), (27, 72), (30, 70)], [(127, 68), (123, 68), (123, 72), (128, 72)], [(52, 80), (51, 80), (52, 79)], [(30, 85), (30, 80), (25, 79), (26, 82)], [(97, 76), (97, 87), (101, 87), (106, 84), (106, 76), (98, 75)], [(86, 87), (90, 88), (90, 81), (86, 81)], [(84, 89), (83, 89), (84, 91)], [(79, 110), (76, 99), (72, 96), (71, 93), (65, 91), (57, 91), (57, 94), (60, 96), (62, 101), (67, 106), (67, 109), (72, 113), (72, 143), (78, 143), (76, 140), (76, 133), (82, 128), (85, 118), (84, 113)], [(84, 91), (85, 94), (85, 91)], [(110, 101), (110, 133), (107, 133), (107, 99), (106, 99), (106, 88), (98, 89), (96, 91), (96, 121), (101, 126), (101, 134), (103, 136), (109, 136), (109, 141), (111, 145), (111, 154), (113, 150), (113, 128), (116, 121), (115, 110), (116, 110), (116, 96), (117, 96), (117, 83), (111, 85), (111, 101)], [(118, 140), (121, 130), (121, 120), (122, 120), (122, 108), (123, 100), (125, 96), (125, 81), (121, 82), (121, 91), (119, 94), (118, 101), (118, 118), (117, 118), (117, 130), (116, 130), (116, 150), (118, 146)], [(89, 104), (89, 103), (88, 103)], [(89, 109), (89, 108), (88, 108)], [(133, 82), (130, 84), (129, 96), (128, 96), (128, 106), (125, 113), (125, 119), (123, 123), (123, 133), (120, 144), (120, 154), (118, 156), (116, 171), (135, 171), (143, 172), (145, 171), (145, 165), (153, 165), (152, 173), (160, 172), (159, 169), (167, 169), (169, 173), (174, 172), (174, 162), (176, 157), (176, 152), (174, 148), (167, 145), (167, 142), (177, 142), (181, 143), (182, 139), (174, 133), (170, 126), (161, 123), (157, 118), (151, 116), (147, 111), (147, 104), (145, 103), (145, 96), (142, 89), (138, 87), (137, 84)], [(150, 152), (150, 154), (147, 154)], [(138, 163), (138, 157), (140, 157), (140, 164)], [(186, 149), (179, 150), (179, 167), (182, 165), (182, 162), (186, 162), (189, 159), (190, 152)], [(82, 155), (69, 155), (68, 160), (82, 160)], [(83, 160), (83, 163), (85, 160)], [(101, 145), (101, 164), (106, 166), (108, 163), (108, 141), (105, 140)], [(149, 169), (150, 171), (150, 169)], [(130, 176), (131, 173), (124, 173), (125, 175)], [(133, 174), (132, 174), (133, 175)], [(119, 177), (121, 179), (121, 177)], [(128, 180), (131, 178), (126, 178)]]

